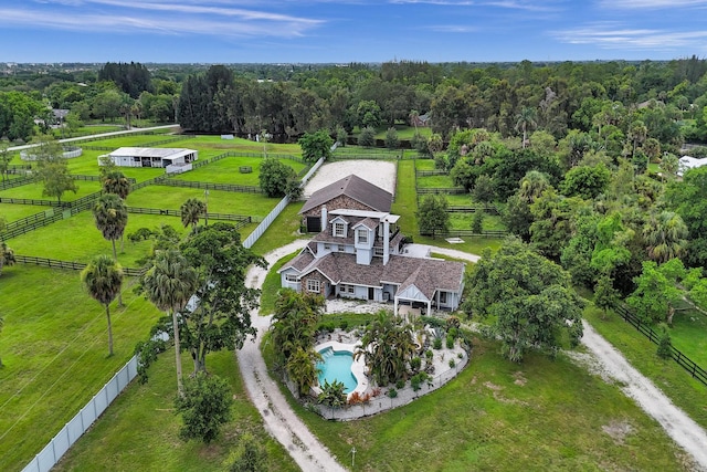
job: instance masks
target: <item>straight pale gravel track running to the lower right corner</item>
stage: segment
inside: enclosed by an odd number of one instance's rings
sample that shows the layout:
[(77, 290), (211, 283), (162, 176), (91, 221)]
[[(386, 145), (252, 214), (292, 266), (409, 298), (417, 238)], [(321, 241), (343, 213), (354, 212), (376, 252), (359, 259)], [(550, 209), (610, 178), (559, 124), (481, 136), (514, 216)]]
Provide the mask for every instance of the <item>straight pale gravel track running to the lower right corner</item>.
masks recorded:
[(621, 390), (661, 423), (665, 432), (694, 458), (698, 470), (707, 471), (707, 432), (673, 405), (651, 380), (633, 368), (591, 325), (582, 323), (582, 344), (594, 355), (595, 360), (595, 365), (590, 365), (589, 368), (621, 382)]

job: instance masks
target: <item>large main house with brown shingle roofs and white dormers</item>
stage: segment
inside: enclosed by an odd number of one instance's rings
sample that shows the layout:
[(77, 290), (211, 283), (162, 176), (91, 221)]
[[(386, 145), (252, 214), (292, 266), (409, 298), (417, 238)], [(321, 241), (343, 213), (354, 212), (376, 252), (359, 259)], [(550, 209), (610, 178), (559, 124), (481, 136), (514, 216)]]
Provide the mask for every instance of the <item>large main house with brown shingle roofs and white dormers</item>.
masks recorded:
[[(428, 314), (432, 308), (458, 308), (464, 290), (464, 264), (404, 255), (399, 216), (389, 210), (339, 208), (336, 204), (337, 201), (344, 206), (365, 204), (347, 195), (345, 189), (350, 192), (351, 185), (354, 189), (372, 186), (349, 176), (319, 190), (318, 201), (312, 204), (312, 199), (307, 201), (300, 213), (314, 218), (313, 211), (318, 209), (317, 222), (321, 231), (279, 269), (282, 286), (326, 297), (393, 302), (395, 314), (401, 304), (421, 305)], [(323, 195), (329, 198), (324, 199)], [(369, 200), (376, 203), (377, 197)], [(390, 201), (386, 203), (382, 198), (378, 203), (390, 208)]]

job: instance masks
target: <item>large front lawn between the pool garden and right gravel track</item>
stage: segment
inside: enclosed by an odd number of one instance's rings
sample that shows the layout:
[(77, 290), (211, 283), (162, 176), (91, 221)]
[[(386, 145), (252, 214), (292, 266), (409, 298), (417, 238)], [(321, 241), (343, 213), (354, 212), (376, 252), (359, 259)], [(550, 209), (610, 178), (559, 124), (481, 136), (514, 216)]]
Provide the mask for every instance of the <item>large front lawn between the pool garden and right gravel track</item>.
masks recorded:
[[(497, 350), (475, 340), (455, 380), (372, 418), (331, 422), (293, 405), (347, 466), (356, 448), (352, 470), (689, 470), (661, 427), (616, 387), (563, 356), (531, 355), (517, 365)], [(270, 346), (265, 354), (272, 360)], [(618, 432), (623, 427), (630, 432)]]

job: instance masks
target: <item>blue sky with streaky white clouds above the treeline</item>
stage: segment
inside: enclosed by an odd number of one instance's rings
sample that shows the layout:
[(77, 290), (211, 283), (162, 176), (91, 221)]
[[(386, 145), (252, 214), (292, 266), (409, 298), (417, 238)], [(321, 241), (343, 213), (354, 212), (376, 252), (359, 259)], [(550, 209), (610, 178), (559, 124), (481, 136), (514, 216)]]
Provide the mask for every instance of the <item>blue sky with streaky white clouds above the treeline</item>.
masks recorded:
[(0, 62), (707, 57), (707, 0), (3, 0)]

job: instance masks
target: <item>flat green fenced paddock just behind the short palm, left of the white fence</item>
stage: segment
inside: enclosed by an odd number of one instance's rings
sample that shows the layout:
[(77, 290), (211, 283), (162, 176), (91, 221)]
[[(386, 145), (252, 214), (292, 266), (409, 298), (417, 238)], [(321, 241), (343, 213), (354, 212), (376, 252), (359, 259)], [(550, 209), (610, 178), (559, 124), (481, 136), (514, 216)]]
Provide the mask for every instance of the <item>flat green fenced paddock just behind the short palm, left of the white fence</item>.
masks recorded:
[[(179, 210), (189, 198), (204, 200), (204, 191), (182, 187), (148, 186), (128, 195), (126, 203), (128, 207)], [(267, 216), (279, 200), (278, 198), (267, 198), (262, 193), (209, 190), (209, 212), (262, 218)]]

